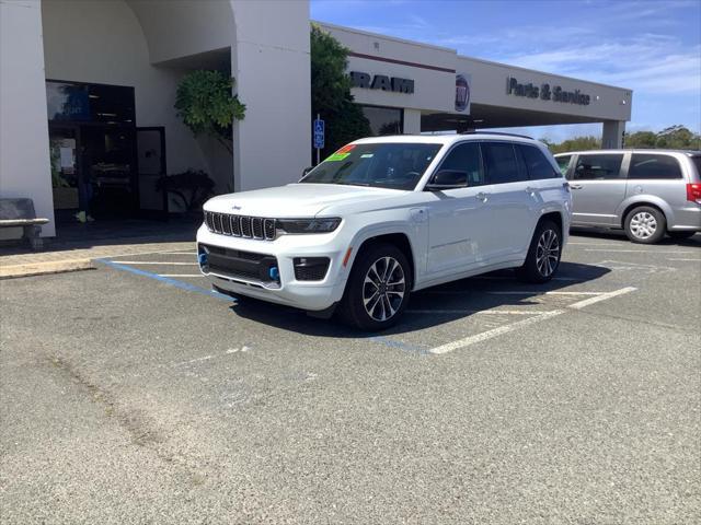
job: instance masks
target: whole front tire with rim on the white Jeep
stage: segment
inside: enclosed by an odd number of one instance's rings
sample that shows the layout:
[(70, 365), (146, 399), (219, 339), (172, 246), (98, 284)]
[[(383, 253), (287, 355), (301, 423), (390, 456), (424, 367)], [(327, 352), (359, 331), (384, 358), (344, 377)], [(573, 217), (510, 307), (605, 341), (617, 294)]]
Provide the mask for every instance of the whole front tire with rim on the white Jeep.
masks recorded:
[(406, 308), (411, 284), (411, 267), (401, 249), (386, 243), (370, 245), (353, 264), (338, 314), (361, 330), (384, 330)]

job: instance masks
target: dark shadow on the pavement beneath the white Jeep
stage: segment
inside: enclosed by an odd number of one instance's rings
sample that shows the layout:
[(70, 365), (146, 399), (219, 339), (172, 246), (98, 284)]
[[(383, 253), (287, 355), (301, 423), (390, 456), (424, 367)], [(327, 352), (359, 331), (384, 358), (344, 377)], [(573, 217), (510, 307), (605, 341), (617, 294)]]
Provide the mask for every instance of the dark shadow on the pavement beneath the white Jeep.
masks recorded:
[[(405, 315), (395, 326), (381, 332), (359, 331), (344, 325), (337, 316), (330, 319), (314, 318), (296, 308), (248, 298), (233, 304), (231, 312), (245, 319), (314, 337), (358, 339), (391, 336), (467, 319), (483, 311), (505, 306), (539, 306), (545, 292), (595, 281), (610, 271), (604, 266), (562, 261), (556, 278), (544, 284), (520, 282), (512, 270), (461, 279), (413, 293)], [(537, 313), (533, 311), (533, 314)]]

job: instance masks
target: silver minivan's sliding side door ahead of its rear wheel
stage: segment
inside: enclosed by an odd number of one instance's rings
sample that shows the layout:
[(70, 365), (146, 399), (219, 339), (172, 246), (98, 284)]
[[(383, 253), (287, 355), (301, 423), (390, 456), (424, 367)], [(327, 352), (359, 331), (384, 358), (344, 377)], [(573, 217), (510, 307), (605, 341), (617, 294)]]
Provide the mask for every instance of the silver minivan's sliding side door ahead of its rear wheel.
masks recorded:
[(623, 153), (579, 153), (570, 175), (572, 222), (618, 224), (616, 210), (625, 198)]

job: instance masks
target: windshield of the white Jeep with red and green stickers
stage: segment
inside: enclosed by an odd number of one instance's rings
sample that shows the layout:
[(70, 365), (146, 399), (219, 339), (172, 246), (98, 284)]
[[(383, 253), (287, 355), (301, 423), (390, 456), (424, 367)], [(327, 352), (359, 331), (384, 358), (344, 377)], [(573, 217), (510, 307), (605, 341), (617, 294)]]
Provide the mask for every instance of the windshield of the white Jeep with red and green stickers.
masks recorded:
[(389, 142), (344, 145), (300, 183), (414, 189), (440, 147)]

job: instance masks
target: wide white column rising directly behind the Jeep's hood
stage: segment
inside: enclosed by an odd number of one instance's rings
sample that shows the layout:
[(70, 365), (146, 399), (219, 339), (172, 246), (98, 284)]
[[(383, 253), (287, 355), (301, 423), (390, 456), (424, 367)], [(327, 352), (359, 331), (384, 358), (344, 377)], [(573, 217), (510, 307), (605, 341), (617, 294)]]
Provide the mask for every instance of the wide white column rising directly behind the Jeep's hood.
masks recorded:
[(233, 127), (234, 189), (297, 182), (311, 165), (309, 2), (231, 4), (231, 70), (246, 105)]

